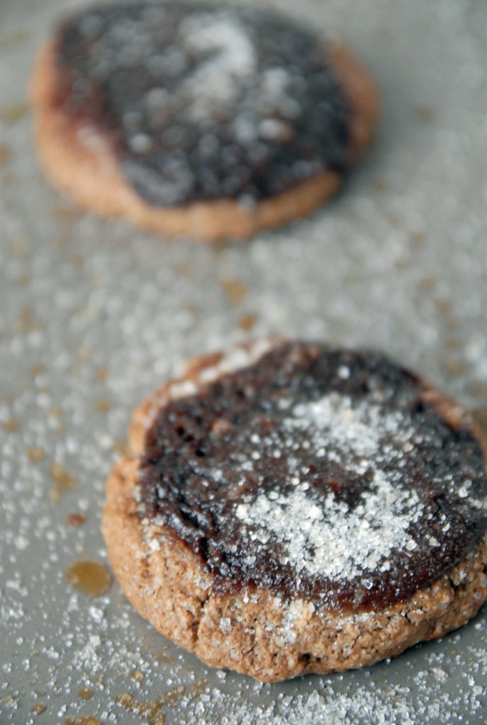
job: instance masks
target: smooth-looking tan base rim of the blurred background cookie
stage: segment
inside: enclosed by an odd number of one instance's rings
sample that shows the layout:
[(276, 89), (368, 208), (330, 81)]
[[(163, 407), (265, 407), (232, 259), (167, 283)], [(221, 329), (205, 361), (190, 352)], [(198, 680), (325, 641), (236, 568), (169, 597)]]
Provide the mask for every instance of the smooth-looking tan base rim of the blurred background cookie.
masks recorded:
[[(340, 46), (329, 51), (353, 109), (352, 160), (372, 138), (378, 93), (367, 71)], [(340, 183), (337, 173), (303, 181), (283, 194), (250, 209), (230, 199), (160, 208), (145, 202), (120, 173), (107, 141), (94, 129), (79, 130), (54, 102), (54, 48), (47, 43), (33, 73), (36, 140), (41, 163), (54, 186), (86, 210), (102, 217), (123, 217), (165, 236), (191, 236), (203, 241), (224, 237), (246, 239), (255, 232), (311, 214), (330, 199)]]

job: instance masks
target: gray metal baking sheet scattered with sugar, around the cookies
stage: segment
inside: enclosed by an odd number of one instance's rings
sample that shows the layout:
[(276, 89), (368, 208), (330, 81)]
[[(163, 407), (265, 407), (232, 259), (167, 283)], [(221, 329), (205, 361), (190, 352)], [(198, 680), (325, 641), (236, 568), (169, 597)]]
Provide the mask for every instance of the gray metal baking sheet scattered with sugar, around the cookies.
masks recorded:
[[(131, 409), (190, 355), (269, 333), (378, 347), (487, 417), (487, 4), (275, 4), (367, 62), (377, 142), (311, 220), (213, 248), (80, 215), (49, 187), (25, 86), (73, 4), (1, 0), (1, 725), (486, 721), (486, 608), (390, 663), (260, 686), (166, 642), (115, 582), (90, 598), (65, 581), (105, 560), (104, 481)], [(59, 501), (55, 481), (72, 488)]]

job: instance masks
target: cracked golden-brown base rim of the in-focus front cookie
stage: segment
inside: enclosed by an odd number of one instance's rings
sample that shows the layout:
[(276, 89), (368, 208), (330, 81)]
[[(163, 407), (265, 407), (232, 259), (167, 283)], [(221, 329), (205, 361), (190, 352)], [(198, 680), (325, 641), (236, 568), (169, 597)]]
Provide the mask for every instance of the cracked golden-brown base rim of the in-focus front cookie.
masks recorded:
[[(253, 352), (253, 344), (242, 346)], [(255, 352), (255, 351), (254, 351)], [(221, 356), (201, 358), (176, 384), (197, 382)], [(215, 368), (216, 370), (216, 368)], [(409, 600), (373, 613), (337, 613), (312, 602), (287, 602), (255, 589), (224, 596), (197, 557), (167, 531), (136, 512), (134, 485), (144, 431), (174, 394), (166, 384), (135, 412), (131, 452), (107, 481), (103, 534), (120, 586), (136, 610), (166, 637), (213, 667), (232, 668), (263, 682), (307, 673), (327, 674), (398, 655), (425, 639), (442, 637), (475, 616), (487, 598), (487, 545)], [(425, 386), (425, 398), (441, 407), (451, 425), (463, 420), (454, 404)], [(162, 534), (162, 536), (161, 536)], [(150, 542), (160, 541), (156, 547)]]

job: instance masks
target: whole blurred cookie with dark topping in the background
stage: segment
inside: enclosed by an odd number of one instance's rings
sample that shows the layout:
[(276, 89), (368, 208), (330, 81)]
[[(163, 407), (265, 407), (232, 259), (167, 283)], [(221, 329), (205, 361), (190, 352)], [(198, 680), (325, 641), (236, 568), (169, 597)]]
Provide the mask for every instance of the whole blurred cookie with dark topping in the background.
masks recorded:
[(54, 186), (99, 215), (206, 240), (314, 211), (378, 109), (343, 46), (272, 12), (171, 1), (66, 20), (32, 91)]

